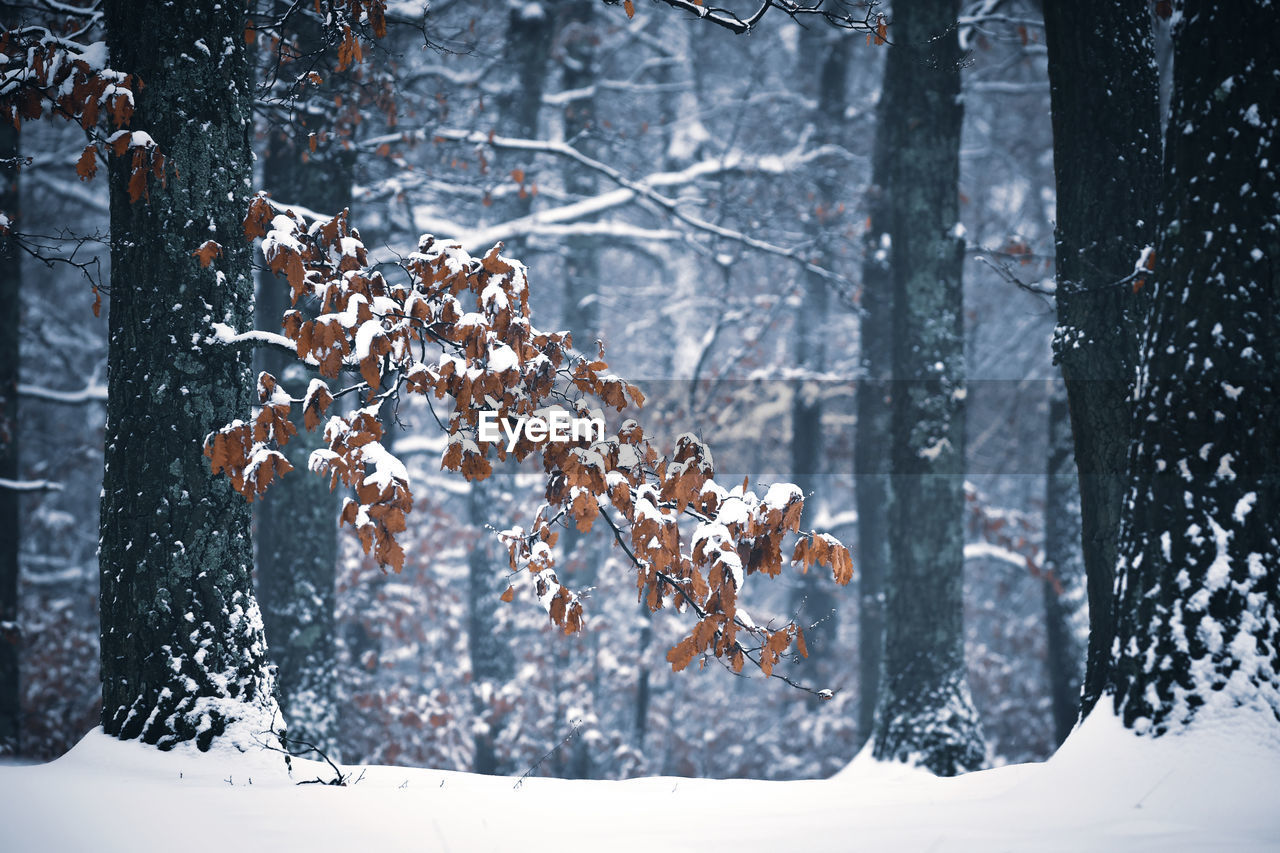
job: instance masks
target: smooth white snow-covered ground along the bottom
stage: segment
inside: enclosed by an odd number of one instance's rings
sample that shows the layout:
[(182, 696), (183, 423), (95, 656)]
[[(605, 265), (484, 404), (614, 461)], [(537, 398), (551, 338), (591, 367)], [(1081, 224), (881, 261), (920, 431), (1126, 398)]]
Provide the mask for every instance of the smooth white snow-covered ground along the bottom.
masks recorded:
[[(52, 763), (0, 767), (0, 849), (1280, 850), (1280, 729), (1243, 713), (1158, 740), (1094, 713), (1043, 765), (959, 779), (860, 756), (826, 781), (367, 767), (330, 788), (278, 760), (93, 731)], [(332, 776), (297, 765), (294, 780)]]

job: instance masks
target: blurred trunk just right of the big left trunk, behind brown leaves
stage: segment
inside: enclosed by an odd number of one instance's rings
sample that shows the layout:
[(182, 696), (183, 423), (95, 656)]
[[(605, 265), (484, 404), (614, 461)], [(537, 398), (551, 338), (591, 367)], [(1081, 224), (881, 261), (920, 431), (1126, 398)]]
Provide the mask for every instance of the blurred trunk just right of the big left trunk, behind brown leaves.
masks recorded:
[[(351, 204), (355, 158), (335, 138), (307, 151), (307, 133), (332, 131), (324, 114), (319, 115), (300, 115), (294, 126), (268, 134), (262, 184), (285, 204), (334, 215)], [(317, 120), (323, 124), (316, 126)], [(256, 307), (257, 328), (276, 330), (291, 307), (283, 277), (262, 270)], [(297, 359), (276, 350), (262, 350), (257, 357), (259, 368), (276, 377), (291, 397), (306, 394), (312, 374)], [(283, 448), (294, 470), (257, 505), (257, 592), (289, 738), (333, 756), (338, 726), (333, 608), (340, 501), (325, 478), (307, 470), (311, 451), (326, 446), (323, 432), (308, 433), (301, 418), (296, 421), (298, 434)]]

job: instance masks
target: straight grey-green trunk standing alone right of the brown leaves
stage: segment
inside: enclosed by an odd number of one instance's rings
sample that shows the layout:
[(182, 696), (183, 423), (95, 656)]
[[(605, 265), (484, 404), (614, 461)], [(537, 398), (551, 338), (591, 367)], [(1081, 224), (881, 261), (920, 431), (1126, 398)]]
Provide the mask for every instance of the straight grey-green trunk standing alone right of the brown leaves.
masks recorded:
[(902, 6), (884, 67), (893, 485), (874, 754), (950, 776), (986, 748), (964, 661), (964, 333), (956, 0)]

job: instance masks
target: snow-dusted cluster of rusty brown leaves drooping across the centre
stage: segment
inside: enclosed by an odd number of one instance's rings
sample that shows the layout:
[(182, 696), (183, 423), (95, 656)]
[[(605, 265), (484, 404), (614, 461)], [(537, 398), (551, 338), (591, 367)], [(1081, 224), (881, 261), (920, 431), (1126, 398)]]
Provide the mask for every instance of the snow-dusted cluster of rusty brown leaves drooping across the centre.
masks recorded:
[[(452, 403), (444, 469), (481, 480), (494, 460), (540, 457), (545, 503), (530, 529), (513, 528), (502, 538), (512, 571), (530, 579), (552, 621), (566, 633), (581, 630), (584, 610), (556, 573), (558, 528), (572, 523), (586, 532), (603, 523), (635, 566), (637, 593), (648, 607), (671, 605), (696, 619), (668, 656), (673, 669), (708, 654), (735, 671), (753, 661), (772, 674), (787, 649), (806, 654), (797, 625), (759, 626), (737, 606), (750, 575), (782, 571), (788, 535), (801, 535), (794, 564), (824, 565), (840, 583), (850, 580), (852, 562), (844, 546), (800, 532), (804, 497), (797, 488), (773, 485), (763, 497), (746, 482), (726, 489), (714, 480), (710, 451), (701, 441), (681, 435), (664, 456), (632, 419), (603, 439), (577, 434), (552, 441), (524, 430), (509, 446), (506, 433), (500, 441), (481, 438), (485, 411), (499, 421), (603, 421), (604, 410), (644, 405), (639, 388), (607, 373), (603, 352), (589, 360), (572, 352), (567, 333), (544, 333), (531, 324), (525, 268), (503, 257), (500, 243), (472, 257), (457, 243), (424, 236), (401, 263), (404, 280), (393, 284), (370, 265), (347, 211), (307, 225), (260, 195), (244, 233), (262, 238), (268, 265), (291, 288), (293, 307), (282, 318), (282, 339), (323, 377), (346, 373), (364, 380), (349, 389), (364, 393), (365, 407), (328, 419), (328, 450), (316, 451), (310, 467), (328, 474), (330, 485), (340, 482), (355, 491), (343, 523), (356, 528), (365, 551), (372, 549), (384, 567), (403, 565), (396, 534), (404, 529), (412, 494), (403, 466), (381, 446), (379, 403), (419, 393)], [(251, 498), (284, 473), (283, 457), (273, 453), (292, 434), (291, 406), (301, 405), (306, 428), (314, 429), (334, 393), (315, 379), (303, 400), (291, 400), (264, 374), (259, 397), (262, 405), (250, 423), (214, 433), (205, 450), (215, 470), (229, 474), (233, 487)], [(513, 596), (515, 588), (508, 589), (504, 599)]]

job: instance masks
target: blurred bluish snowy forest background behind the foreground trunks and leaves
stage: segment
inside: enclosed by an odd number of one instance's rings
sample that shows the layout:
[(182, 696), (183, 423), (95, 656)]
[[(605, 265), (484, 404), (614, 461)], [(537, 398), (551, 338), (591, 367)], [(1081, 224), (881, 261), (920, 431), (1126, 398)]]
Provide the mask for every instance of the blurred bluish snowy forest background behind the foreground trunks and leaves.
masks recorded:
[[(1046, 500), (1059, 528), (1075, 507), (1055, 492), (1074, 471), (1051, 353), (1039, 10), (966, 5), (965, 652), (989, 758), (1004, 763), (1047, 757), (1062, 720), (1074, 721), (1087, 615), (1070, 548), (1046, 576)], [(813, 496), (805, 526), (856, 544), (863, 280), (886, 251), (869, 223), (887, 49), (783, 15), (735, 36), (649, 3), (632, 19), (568, 0), (438, 0), (425, 15), (396, 3), (388, 20), (362, 64), (310, 87), (297, 81), (340, 47), (256, 42), (256, 186), (319, 214), (349, 206), (385, 259), (421, 233), (476, 255), (504, 241), (530, 269), (538, 325), (571, 330), (585, 352), (603, 342), (611, 369), (649, 396), (649, 434), (696, 433), (721, 482), (799, 484)], [(0, 133), (29, 161), (10, 184), (24, 231), (72, 261), (24, 257), (5, 270), (23, 283), (15, 479), (35, 482), (20, 492), (19, 530), (3, 532), (20, 566), (22, 752), (49, 760), (100, 713), (106, 313), (91, 311), (90, 288), (109, 264), (108, 186), (77, 179), (76, 127), (32, 122), (20, 141)], [(261, 287), (270, 316), (280, 286), (264, 277)], [(529, 597), (500, 602), (504, 558), (486, 525), (527, 519), (538, 478), (495, 478), (472, 493), (440, 471), (433, 412), (415, 403), (397, 416), (388, 444), (410, 464), (416, 494), (402, 573), (383, 573), (337, 533), (323, 484), (319, 503), (306, 483), (255, 505), (273, 652), (284, 631), (324, 635), (306, 640), (319, 678), (289, 688), (296, 730), (351, 763), (596, 779), (827, 776), (856, 754), (867, 736), (859, 631), (876, 606), (864, 580), (883, 569), (867, 548), (855, 547), (849, 588), (788, 570), (746, 602), (758, 622), (803, 612), (818, 625), (791, 676), (833, 698), (714, 660), (673, 674), (666, 652), (687, 625), (636, 602), (603, 532), (561, 539), (566, 583), (591, 589), (586, 631), (561, 635)], [(321, 520), (308, 526), (316, 506)], [(303, 558), (328, 561), (332, 593), (273, 567)], [(332, 616), (273, 610), (270, 584), (284, 589), (274, 601), (307, 599)], [(1065, 669), (1051, 666), (1051, 634)]]

